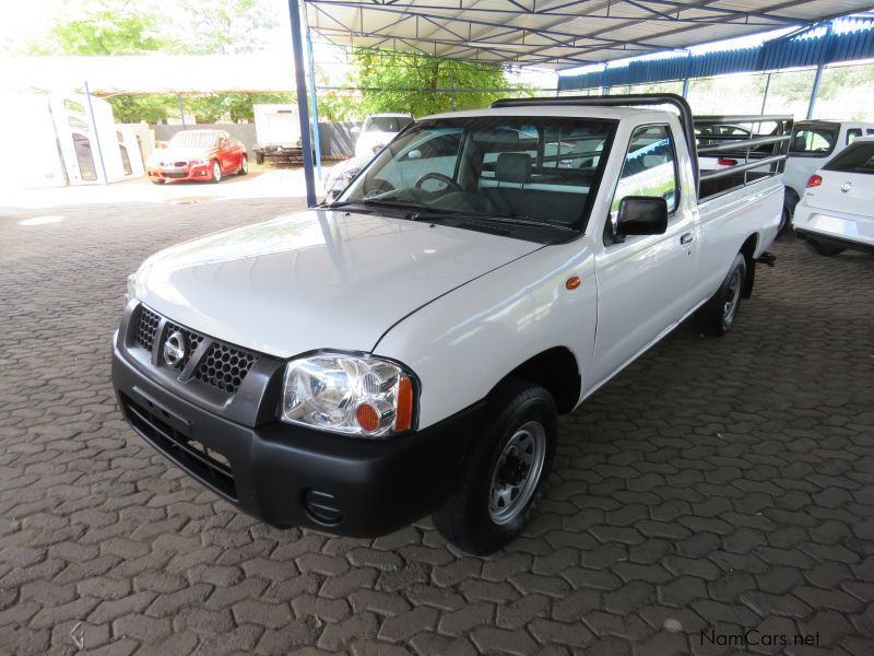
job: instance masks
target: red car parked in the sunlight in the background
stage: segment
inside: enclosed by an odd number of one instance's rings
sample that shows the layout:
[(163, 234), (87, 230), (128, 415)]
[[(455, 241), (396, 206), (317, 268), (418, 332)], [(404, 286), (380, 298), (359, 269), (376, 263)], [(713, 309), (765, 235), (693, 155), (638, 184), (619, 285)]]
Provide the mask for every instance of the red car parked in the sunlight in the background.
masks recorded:
[(145, 164), (155, 185), (167, 180), (218, 183), (231, 173), (249, 173), (246, 147), (224, 130), (182, 130), (167, 148), (156, 150)]

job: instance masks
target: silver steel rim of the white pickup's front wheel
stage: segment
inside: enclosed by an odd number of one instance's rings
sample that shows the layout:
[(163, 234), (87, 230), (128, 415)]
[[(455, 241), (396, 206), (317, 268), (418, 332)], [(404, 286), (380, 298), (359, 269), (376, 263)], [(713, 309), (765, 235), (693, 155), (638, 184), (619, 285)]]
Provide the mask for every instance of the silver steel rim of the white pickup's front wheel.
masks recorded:
[(534, 496), (546, 460), (546, 430), (538, 421), (519, 426), (505, 443), (492, 471), (488, 516), (498, 525), (521, 515)]

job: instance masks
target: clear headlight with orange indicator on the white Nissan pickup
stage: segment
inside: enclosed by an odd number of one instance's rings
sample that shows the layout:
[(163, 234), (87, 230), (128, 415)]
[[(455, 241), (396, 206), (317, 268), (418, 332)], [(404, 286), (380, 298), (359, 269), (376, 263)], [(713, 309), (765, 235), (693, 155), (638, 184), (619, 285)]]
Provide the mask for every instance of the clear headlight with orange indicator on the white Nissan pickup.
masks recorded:
[(413, 426), (415, 393), (398, 364), (323, 353), (285, 367), (282, 419), (336, 433), (388, 437)]

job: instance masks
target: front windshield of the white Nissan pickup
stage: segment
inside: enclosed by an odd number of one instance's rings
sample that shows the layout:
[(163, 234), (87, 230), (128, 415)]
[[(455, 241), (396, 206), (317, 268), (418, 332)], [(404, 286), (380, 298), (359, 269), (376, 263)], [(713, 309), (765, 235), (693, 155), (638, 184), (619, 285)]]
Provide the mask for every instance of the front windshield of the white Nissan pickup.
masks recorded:
[(581, 230), (615, 121), (444, 118), (395, 138), (340, 201)]

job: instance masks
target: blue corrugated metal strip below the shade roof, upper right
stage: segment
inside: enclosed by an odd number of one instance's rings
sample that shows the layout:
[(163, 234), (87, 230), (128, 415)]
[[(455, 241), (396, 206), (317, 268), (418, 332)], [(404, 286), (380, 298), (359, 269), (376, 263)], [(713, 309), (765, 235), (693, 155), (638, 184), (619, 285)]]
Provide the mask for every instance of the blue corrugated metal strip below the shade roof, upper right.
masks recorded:
[(709, 78), (739, 72), (772, 71), (787, 68), (874, 58), (874, 19), (845, 17), (814, 25), (752, 48), (716, 50), (630, 60), (580, 75), (558, 79), (560, 91), (593, 89), (689, 78)]

